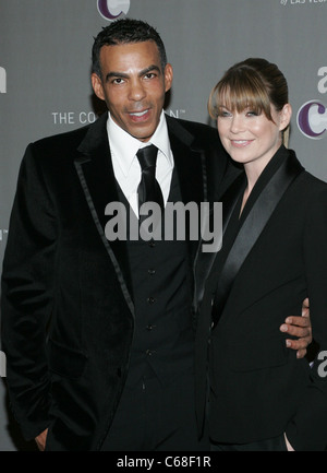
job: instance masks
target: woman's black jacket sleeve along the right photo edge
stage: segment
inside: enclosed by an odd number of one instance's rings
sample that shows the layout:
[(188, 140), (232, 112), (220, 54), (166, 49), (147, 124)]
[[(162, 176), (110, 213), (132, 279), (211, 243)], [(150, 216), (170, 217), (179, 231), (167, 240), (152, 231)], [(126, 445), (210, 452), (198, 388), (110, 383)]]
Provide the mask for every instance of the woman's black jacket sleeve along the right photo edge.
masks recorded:
[[(319, 345), (310, 383), (299, 392), (300, 403), (287, 436), (295, 450), (327, 449), (327, 190), (311, 200), (304, 238), (304, 265), (313, 338)], [(325, 362), (325, 363), (324, 363)]]

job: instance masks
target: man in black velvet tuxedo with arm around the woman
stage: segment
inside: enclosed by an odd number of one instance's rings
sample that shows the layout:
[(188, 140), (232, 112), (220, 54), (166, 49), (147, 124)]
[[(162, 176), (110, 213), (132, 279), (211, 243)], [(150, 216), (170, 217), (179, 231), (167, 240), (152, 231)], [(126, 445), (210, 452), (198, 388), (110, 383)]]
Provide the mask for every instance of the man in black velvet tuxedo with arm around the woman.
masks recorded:
[(217, 200), (235, 173), (214, 129), (164, 114), (171, 82), (154, 28), (110, 24), (95, 40), (92, 73), (109, 114), (29, 144), (23, 158), (2, 343), (13, 411), (41, 450), (208, 448), (193, 393), (198, 243), (109, 241), (105, 233), (108, 203), (137, 215), (145, 143), (158, 150), (161, 204)]

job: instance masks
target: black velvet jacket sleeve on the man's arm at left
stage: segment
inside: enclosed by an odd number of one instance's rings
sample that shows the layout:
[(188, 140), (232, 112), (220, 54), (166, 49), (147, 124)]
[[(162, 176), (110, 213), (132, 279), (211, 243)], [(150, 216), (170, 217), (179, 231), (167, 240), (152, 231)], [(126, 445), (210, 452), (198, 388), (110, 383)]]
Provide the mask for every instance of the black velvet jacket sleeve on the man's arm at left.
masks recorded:
[(34, 154), (34, 145), (29, 145), (20, 169), (1, 286), (1, 339), (10, 403), (26, 439), (49, 425), (46, 332), (58, 234), (41, 162)]

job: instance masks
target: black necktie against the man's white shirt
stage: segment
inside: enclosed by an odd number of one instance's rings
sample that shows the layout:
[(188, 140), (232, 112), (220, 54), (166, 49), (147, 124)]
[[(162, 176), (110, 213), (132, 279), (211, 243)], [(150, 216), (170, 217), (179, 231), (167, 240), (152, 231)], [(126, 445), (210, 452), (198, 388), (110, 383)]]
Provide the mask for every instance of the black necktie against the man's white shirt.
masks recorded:
[(157, 153), (158, 149), (150, 144), (140, 149), (136, 154), (142, 169), (141, 182), (137, 188), (138, 209), (145, 202), (157, 202), (164, 210), (164, 197), (156, 179)]

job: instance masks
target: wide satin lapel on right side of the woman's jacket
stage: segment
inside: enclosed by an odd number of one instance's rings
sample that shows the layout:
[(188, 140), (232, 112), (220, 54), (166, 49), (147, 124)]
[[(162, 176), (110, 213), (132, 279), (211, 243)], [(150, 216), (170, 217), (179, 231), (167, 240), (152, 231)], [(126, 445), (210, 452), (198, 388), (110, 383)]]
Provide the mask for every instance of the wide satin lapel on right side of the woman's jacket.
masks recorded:
[(213, 320), (215, 324), (220, 319), (232, 283), (241, 265), (255, 245), (283, 193), (302, 170), (303, 167), (295, 155), (292, 152), (288, 154), (286, 152), (281, 165), (245, 215), (219, 277), (213, 307)]

